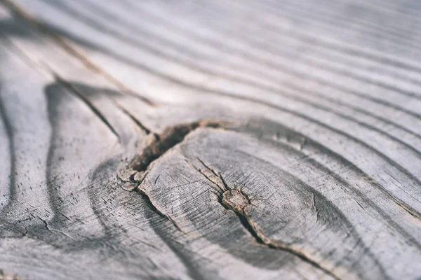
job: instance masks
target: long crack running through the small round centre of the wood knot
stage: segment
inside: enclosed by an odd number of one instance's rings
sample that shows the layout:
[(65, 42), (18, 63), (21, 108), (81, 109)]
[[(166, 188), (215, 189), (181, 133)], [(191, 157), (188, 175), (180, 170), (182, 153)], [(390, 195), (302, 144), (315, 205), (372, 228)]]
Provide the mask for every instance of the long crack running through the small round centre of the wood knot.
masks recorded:
[[(267, 248), (286, 251), (295, 255), (296, 257), (304, 260), (305, 262), (309, 263), (313, 267), (320, 269), (322, 272), (328, 274), (329, 276), (333, 277), (333, 279), (340, 279), (339, 276), (335, 275), (330, 270), (326, 269), (325, 267), (321, 266), (315, 260), (312, 260), (309, 256), (305, 255), (298, 251), (297, 249), (293, 248), (292, 246), (288, 246), (286, 244), (281, 244), (279, 241), (274, 241), (269, 237), (266, 237), (265, 234), (258, 228), (253, 220), (250, 218), (250, 215), (247, 212), (247, 207), (251, 205), (251, 200), (243, 193), (242, 189), (238, 190), (236, 188), (229, 188), (225, 179), (222, 177), (220, 173), (215, 172), (209, 165), (206, 165), (203, 160), (199, 159), (199, 162), (208, 169), (208, 172), (204, 172), (203, 169), (199, 169), (198, 167), (194, 167), (200, 174), (202, 174), (208, 181), (218, 186), (218, 202), (224, 207), (225, 209), (229, 209), (234, 211), (236, 216), (239, 217), (239, 220), (244, 228), (250, 233), (250, 235), (255, 239), (258, 244), (266, 246)], [(225, 187), (223, 190), (220, 186), (222, 184)]]

